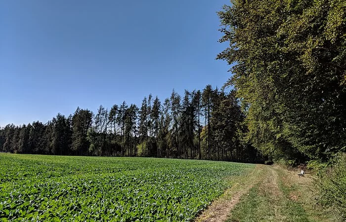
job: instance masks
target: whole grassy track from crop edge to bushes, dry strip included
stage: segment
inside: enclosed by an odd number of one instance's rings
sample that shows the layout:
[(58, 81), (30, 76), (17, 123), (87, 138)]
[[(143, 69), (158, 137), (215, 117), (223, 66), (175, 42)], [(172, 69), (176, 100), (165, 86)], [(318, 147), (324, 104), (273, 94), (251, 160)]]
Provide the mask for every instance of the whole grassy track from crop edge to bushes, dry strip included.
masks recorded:
[(228, 189), (197, 222), (332, 222), (316, 209), (313, 176), (257, 165), (248, 177)]

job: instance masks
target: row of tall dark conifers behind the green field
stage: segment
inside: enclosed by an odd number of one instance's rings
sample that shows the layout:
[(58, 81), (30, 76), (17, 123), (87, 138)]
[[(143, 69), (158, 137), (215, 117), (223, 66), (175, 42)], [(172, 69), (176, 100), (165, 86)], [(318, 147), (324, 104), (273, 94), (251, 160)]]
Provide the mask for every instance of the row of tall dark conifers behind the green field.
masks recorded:
[(0, 128), (0, 151), (52, 155), (146, 156), (242, 162), (262, 160), (242, 136), (245, 116), (236, 92), (188, 91), (160, 101), (150, 94), (140, 107), (77, 108), (50, 121)]

